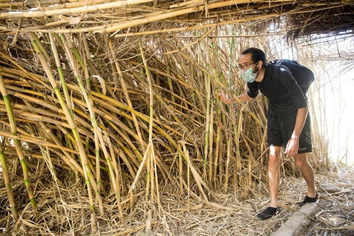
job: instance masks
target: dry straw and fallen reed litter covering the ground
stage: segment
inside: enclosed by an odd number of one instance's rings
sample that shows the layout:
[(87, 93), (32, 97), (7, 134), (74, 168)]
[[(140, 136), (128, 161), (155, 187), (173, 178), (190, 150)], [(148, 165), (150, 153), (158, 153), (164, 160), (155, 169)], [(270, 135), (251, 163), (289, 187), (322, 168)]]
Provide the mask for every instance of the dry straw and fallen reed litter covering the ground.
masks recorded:
[[(331, 172), (316, 173), (317, 187), (320, 194), (318, 203), (321, 211), (311, 226), (308, 236), (352, 236), (354, 235), (354, 173), (352, 167), (333, 166)], [(335, 193), (329, 193), (328, 186), (337, 188)], [(14, 186), (16, 188), (16, 186)], [(10, 216), (4, 217), (1, 207), (1, 228), (10, 229), (5, 235), (73, 235), (75, 236), (269, 236), (299, 207), (297, 202), (305, 194), (305, 183), (302, 178), (282, 177), (280, 203), (282, 212), (267, 221), (259, 221), (255, 216), (268, 204), (266, 186), (259, 185), (250, 194), (248, 200), (239, 200), (242, 191), (234, 193), (219, 193), (221, 199), (217, 205), (207, 207), (200, 201), (189, 202), (174, 194), (174, 189), (167, 186), (160, 189), (161, 209), (158, 204), (150, 206), (145, 202), (144, 193), (135, 199), (132, 213), (126, 216), (123, 223), (118, 221), (118, 209), (107, 209), (107, 215), (98, 219), (99, 231), (91, 232), (89, 215), (83, 212), (88, 208), (80, 202), (72, 201), (80, 194), (81, 189), (47, 186), (46, 192), (37, 193), (41, 197), (40, 223), (34, 222), (28, 215), (30, 206), (23, 212), (22, 220), (15, 229), (10, 224)], [(324, 189), (327, 189), (324, 190)], [(0, 189), (2, 199), (5, 199), (3, 186)], [(60, 190), (60, 191), (58, 191)], [(60, 195), (58, 194), (60, 192)], [(137, 193), (139, 194), (139, 193)], [(251, 196), (252, 195), (252, 196)], [(24, 198), (25, 198), (24, 194)], [(85, 194), (82, 194), (85, 196)], [(79, 197), (79, 199), (82, 197)], [(140, 200), (139, 200), (140, 199)], [(86, 199), (82, 199), (87, 202)], [(150, 210), (147, 210), (150, 209)], [(7, 211), (8, 212), (8, 211)], [(147, 227), (151, 226), (151, 227)], [(68, 230), (72, 227), (72, 231)]]

